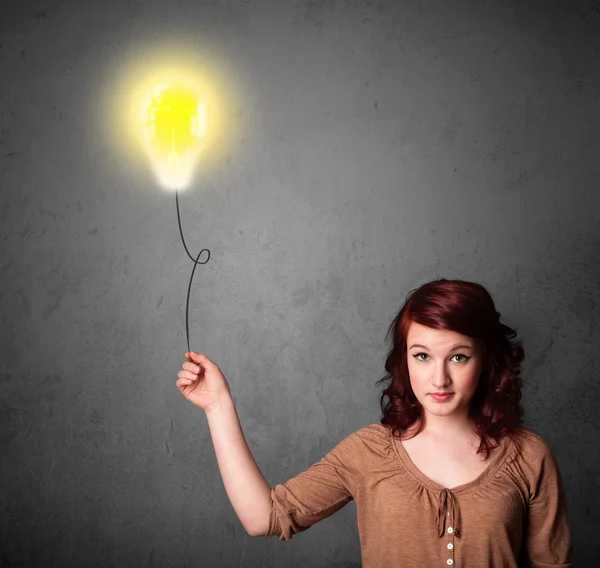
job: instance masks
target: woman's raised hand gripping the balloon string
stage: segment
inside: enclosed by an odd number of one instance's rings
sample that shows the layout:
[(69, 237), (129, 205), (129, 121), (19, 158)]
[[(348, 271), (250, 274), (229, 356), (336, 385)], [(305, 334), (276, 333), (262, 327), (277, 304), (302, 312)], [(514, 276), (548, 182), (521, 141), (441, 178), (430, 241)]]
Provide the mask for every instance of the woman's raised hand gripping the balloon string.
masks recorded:
[(185, 398), (208, 412), (231, 397), (227, 379), (216, 363), (195, 351), (187, 351), (185, 358), (175, 383)]

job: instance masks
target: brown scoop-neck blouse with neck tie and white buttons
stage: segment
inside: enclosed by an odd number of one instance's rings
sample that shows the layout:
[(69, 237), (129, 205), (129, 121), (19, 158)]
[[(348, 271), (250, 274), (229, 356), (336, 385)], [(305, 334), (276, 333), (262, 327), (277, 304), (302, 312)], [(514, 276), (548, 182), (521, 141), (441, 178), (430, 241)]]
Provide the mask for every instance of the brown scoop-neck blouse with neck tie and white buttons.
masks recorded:
[(571, 566), (560, 472), (527, 428), (516, 443), (500, 440), (481, 475), (451, 489), (427, 478), (389, 427), (361, 428), (271, 489), (264, 536), (290, 540), (352, 499), (363, 568)]

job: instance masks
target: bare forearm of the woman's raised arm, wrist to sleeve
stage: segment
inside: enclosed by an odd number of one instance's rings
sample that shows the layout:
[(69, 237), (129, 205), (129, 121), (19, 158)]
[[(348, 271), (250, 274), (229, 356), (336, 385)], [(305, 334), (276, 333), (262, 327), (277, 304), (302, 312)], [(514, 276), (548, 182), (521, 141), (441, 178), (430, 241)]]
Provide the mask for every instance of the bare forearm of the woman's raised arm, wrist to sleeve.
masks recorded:
[(231, 397), (206, 412), (225, 491), (242, 525), (253, 536), (269, 528), (271, 486), (248, 448)]

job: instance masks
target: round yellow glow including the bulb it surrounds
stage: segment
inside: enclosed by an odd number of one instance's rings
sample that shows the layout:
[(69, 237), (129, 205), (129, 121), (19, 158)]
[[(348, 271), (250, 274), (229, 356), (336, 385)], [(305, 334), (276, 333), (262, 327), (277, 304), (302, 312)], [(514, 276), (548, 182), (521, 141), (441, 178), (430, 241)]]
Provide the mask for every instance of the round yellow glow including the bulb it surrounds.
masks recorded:
[(213, 187), (204, 180), (211, 168), (235, 160), (245, 118), (237, 109), (248, 87), (237, 84), (235, 62), (196, 38), (139, 42), (121, 55), (94, 93), (111, 160), (124, 171), (151, 171), (165, 189)]

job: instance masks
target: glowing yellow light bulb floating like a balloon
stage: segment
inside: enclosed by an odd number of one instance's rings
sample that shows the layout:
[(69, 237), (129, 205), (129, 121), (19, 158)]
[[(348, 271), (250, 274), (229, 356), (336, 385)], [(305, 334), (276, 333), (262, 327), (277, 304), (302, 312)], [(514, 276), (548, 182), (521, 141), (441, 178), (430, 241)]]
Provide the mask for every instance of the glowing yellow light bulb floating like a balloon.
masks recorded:
[(150, 89), (141, 106), (142, 135), (161, 185), (183, 189), (191, 181), (206, 134), (206, 103), (183, 83)]

